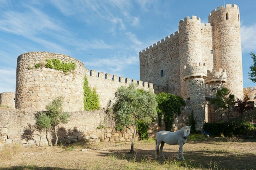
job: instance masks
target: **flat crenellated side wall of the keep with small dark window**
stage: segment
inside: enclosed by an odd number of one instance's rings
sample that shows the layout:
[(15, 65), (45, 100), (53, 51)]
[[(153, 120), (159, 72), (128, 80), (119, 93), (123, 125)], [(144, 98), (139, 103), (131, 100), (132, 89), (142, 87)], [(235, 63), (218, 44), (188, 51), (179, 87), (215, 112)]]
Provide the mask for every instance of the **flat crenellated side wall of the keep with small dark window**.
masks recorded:
[(140, 52), (140, 80), (167, 87), (169, 93), (180, 95), (178, 56), (178, 32), (176, 32)]

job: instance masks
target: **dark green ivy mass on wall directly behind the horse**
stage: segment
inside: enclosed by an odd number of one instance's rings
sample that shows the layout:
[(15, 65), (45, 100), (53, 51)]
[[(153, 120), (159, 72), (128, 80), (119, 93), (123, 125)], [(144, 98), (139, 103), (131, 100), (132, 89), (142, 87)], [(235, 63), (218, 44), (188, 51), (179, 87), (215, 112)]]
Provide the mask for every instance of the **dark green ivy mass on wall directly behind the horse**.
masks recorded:
[(172, 129), (172, 123), (174, 116), (180, 115), (181, 107), (186, 106), (186, 102), (181, 96), (174, 94), (166, 94), (164, 92), (156, 95), (158, 124), (161, 126), (162, 117), (164, 117), (164, 123), (166, 130)]

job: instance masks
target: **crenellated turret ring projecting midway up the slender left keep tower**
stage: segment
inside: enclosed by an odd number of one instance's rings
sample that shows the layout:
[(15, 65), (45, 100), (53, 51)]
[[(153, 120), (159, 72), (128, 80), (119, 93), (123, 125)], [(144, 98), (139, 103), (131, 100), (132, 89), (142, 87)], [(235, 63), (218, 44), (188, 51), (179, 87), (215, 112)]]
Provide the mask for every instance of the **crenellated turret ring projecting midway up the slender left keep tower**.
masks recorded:
[(184, 72), (183, 80), (186, 81), (190, 78), (206, 78), (207, 77), (207, 68), (206, 64), (193, 63), (182, 66), (181, 71)]

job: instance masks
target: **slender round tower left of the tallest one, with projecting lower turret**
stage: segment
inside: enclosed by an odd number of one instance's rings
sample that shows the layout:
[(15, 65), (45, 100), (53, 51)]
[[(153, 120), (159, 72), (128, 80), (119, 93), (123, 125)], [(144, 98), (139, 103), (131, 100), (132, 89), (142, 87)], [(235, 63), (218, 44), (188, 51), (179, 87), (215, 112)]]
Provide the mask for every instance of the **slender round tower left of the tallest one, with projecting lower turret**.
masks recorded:
[(190, 100), (198, 129), (201, 129), (205, 120), (204, 78), (207, 70), (202, 63), (200, 18), (192, 16), (191, 19), (186, 17), (180, 21), (179, 44), (181, 95)]

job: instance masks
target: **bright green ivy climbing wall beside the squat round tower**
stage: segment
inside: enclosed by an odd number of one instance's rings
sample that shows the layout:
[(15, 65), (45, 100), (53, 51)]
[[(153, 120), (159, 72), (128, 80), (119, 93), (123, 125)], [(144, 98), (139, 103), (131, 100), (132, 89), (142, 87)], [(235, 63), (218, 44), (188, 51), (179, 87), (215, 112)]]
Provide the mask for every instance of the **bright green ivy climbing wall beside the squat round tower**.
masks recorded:
[(96, 90), (88, 86), (87, 77), (84, 76), (84, 110), (97, 110), (100, 109), (99, 96)]

